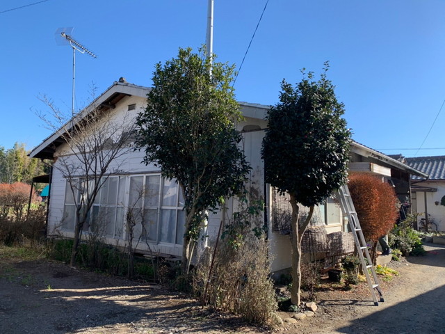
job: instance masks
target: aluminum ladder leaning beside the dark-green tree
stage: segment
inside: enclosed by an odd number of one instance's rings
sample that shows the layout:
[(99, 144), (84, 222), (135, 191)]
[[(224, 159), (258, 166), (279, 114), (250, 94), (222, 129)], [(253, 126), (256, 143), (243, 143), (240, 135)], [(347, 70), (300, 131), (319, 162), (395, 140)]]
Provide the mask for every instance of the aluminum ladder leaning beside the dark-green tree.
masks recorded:
[[(366, 246), (366, 240), (364, 239), (363, 231), (360, 227), (359, 218), (357, 216), (357, 212), (355, 212), (353, 199), (350, 197), (348, 186), (346, 184), (341, 186), (340, 189), (336, 191), (335, 195), (337, 200), (340, 202), (343, 215), (348, 217), (349, 228), (351, 232), (353, 232), (355, 246), (357, 248), (360, 261), (362, 262), (362, 267), (364, 268), (364, 274), (366, 276), (366, 280), (368, 281), (369, 291), (371, 291), (371, 295), (373, 296), (374, 305), (377, 306), (378, 296), (380, 297), (381, 302), (384, 302), (385, 300), (383, 299), (379, 280), (372, 265), (373, 262), (371, 260), (371, 256), (369, 255), (368, 246)], [(367, 263), (365, 261), (365, 257), (368, 261)], [(372, 277), (368, 269), (371, 271)]]

